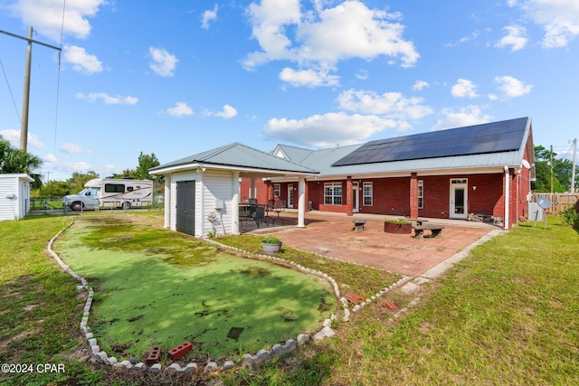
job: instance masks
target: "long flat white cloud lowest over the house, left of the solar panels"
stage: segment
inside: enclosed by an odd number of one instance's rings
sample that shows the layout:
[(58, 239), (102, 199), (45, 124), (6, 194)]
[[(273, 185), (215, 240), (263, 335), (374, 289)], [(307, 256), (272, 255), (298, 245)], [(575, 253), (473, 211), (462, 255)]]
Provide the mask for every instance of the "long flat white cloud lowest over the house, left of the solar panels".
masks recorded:
[(315, 115), (305, 119), (273, 118), (264, 127), (267, 137), (301, 146), (329, 147), (352, 145), (387, 128), (395, 128), (392, 119), (344, 112)]

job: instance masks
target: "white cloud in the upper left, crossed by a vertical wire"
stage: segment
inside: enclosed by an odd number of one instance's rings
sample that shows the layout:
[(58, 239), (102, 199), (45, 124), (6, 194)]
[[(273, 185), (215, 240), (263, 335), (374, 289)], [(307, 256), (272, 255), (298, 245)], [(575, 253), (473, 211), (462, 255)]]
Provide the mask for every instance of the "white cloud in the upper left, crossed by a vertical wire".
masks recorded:
[[(62, 0), (18, 0), (8, 7), (24, 25), (33, 25), (34, 30), (55, 42), (64, 34), (84, 39), (90, 34), (90, 17), (94, 17), (106, 0), (68, 0), (66, 8)], [(64, 21), (62, 21), (62, 11)]]

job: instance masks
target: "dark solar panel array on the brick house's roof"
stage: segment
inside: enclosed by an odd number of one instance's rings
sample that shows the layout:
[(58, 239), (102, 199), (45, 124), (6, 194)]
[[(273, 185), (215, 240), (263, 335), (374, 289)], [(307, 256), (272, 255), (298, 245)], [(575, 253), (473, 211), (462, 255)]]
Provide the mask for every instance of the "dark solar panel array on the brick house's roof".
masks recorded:
[(332, 166), (374, 164), (452, 155), (476, 155), (520, 148), (528, 118), (432, 131), (371, 141)]

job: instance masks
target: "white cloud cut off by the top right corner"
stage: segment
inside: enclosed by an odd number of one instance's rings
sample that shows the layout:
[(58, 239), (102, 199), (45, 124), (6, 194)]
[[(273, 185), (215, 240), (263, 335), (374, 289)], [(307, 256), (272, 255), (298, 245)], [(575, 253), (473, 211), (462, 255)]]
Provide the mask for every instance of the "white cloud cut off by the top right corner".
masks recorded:
[(577, 0), (509, 1), (520, 6), (527, 17), (545, 30), (543, 47), (566, 47), (579, 34), (579, 2)]

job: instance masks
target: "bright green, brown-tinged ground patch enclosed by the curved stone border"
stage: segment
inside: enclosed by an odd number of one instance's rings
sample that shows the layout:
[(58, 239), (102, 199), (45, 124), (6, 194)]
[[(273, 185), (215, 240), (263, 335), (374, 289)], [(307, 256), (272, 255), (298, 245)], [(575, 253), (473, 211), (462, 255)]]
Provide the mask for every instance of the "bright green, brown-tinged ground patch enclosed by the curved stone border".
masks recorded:
[(118, 358), (185, 341), (202, 361), (255, 353), (336, 311), (326, 280), (133, 220), (83, 216), (55, 243), (94, 287), (91, 332)]

